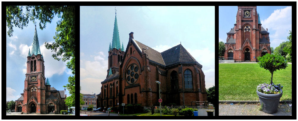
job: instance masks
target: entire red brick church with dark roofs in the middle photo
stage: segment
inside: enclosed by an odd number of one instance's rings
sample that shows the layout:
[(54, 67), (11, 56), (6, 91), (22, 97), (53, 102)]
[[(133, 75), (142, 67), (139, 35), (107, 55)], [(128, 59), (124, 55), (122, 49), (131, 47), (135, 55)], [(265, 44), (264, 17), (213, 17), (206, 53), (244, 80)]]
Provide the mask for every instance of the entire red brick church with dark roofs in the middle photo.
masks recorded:
[[(158, 52), (134, 39), (120, 46), (115, 16), (112, 44), (108, 49), (108, 70), (101, 82), (97, 107), (118, 107), (122, 103), (159, 105), (159, 85), (162, 105), (186, 105), (191, 101), (207, 101), (205, 75), (199, 64), (181, 45)], [(119, 105), (118, 105), (119, 103)]]

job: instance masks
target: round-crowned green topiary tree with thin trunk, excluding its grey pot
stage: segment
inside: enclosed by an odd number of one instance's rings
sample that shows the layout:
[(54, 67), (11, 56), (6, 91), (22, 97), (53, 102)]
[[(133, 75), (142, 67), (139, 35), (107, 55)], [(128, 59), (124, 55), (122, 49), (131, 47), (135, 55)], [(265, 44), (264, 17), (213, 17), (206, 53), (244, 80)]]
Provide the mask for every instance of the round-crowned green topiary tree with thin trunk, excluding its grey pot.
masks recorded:
[(258, 64), (260, 65), (260, 67), (269, 70), (269, 72), (271, 73), (270, 84), (272, 84), (273, 72), (276, 70), (285, 69), (285, 67), (288, 66), (287, 60), (281, 55), (277, 54), (267, 53), (262, 57), (257, 57), (257, 59), (259, 60)]

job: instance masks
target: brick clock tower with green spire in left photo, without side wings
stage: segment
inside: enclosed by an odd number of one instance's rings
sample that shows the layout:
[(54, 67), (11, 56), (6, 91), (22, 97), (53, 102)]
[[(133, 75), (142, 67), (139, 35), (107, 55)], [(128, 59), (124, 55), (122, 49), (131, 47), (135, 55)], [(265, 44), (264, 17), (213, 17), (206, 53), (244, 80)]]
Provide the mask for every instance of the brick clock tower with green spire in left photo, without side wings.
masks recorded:
[(45, 114), (45, 76), (44, 58), (40, 52), (38, 36), (35, 33), (32, 49), (27, 56), (27, 73), (25, 74), (24, 103), (22, 112)]

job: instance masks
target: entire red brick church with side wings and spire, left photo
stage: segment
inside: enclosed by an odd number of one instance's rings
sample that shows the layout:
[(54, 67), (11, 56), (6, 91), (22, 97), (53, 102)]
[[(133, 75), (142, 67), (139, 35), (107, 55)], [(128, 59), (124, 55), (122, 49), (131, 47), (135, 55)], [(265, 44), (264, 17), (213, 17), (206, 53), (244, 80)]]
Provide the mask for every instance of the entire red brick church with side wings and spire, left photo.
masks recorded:
[(31, 52), (29, 49), (27, 56), (25, 88), (21, 97), (15, 101), (15, 112), (49, 114), (55, 110), (59, 114), (60, 110), (67, 110), (65, 89), (58, 91), (51, 87), (49, 79), (45, 78), (44, 67), (35, 26), (32, 49)]

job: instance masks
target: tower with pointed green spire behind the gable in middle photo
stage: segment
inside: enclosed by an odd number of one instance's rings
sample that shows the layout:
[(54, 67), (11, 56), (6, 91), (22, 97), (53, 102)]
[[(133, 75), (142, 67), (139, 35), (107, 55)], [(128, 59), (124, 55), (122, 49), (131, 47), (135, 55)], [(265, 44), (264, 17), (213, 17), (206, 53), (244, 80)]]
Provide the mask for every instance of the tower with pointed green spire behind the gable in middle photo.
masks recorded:
[(109, 50), (108, 50), (107, 77), (111, 74), (115, 74), (116, 72), (119, 72), (119, 66), (120, 66), (123, 56), (124, 56), (123, 42), (122, 42), (122, 46), (121, 46), (120, 38), (119, 38), (116, 11), (117, 10), (115, 9), (115, 22), (114, 22), (112, 45), (110, 43)]

